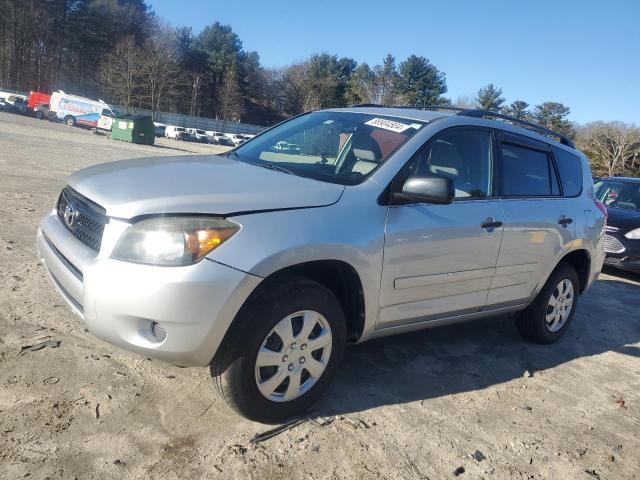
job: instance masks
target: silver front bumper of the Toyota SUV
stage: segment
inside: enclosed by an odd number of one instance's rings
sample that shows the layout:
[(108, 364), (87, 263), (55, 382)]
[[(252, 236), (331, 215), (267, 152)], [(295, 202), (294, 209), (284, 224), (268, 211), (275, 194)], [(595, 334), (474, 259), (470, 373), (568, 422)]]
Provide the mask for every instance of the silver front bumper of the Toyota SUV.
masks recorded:
[[(55, 211), (38, 229), (38, 255), (60, 295), (96, 337), (182, 366), (209, 364), (236, 313), (262, 280), (205, 259), (157, 267), (109, 258), (124, 222), (105, 227), (100, 253), (85, 246)], [(166, 331), (158, 342), (153, 322)]]

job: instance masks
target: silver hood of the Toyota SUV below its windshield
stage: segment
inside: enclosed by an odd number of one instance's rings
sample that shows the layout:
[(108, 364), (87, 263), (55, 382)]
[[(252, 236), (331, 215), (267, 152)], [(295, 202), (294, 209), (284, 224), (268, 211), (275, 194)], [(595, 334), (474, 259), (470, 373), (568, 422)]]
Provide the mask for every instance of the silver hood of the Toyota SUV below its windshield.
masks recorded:
[(337, 202), (345, 188), (213, 155), (104, 163), (74, 173), (67, 183), (108, 216), (123, 219), (321, 207)]

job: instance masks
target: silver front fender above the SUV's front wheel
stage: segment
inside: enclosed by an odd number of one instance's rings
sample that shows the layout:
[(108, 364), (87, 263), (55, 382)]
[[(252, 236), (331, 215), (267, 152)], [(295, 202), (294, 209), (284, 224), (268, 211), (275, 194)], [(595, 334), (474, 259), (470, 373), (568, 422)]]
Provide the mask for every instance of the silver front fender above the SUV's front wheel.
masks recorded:
[(345, 262), (362, 282), (366, 335), (378, 314), (387, 210), (376, 196), (345, 192), (327, 207), (235, 216), (240, 232), (209, 258), (264, 278), (306, 262)]

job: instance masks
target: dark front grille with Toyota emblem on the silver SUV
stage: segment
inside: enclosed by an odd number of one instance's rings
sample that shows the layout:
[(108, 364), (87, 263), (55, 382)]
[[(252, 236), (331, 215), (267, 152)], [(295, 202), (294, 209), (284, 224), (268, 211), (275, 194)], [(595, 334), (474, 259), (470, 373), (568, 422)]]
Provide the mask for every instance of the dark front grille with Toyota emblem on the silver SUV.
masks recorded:
[(100, 250), (102, 233), (108, 222), (104, 208), (65, 187), (58, 197), (56, 210), (60, 221), (78, 240), (96, 252)]

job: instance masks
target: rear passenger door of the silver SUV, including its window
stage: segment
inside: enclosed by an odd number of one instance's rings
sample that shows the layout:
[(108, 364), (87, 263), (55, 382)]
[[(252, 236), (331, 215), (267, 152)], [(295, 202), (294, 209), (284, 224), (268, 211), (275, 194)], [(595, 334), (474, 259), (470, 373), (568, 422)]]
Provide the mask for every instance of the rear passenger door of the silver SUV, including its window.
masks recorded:
[(550, 146), (499, 131), (504, 233), (488, 305), (528, 300), (574, 238), (577, 212), (562, 196)]

